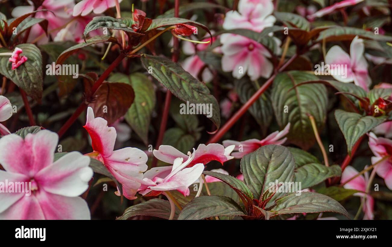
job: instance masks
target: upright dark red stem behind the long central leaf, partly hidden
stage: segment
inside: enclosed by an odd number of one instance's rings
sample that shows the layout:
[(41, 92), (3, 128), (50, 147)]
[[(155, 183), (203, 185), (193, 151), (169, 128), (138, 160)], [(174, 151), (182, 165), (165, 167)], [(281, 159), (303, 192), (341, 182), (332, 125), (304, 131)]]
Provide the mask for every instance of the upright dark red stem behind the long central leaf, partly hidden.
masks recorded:
[[(180, 0), (175, 0), (174, 1), (174, 17), (179, 16), (179, 7), (180, 7)], [(172, 61), (177, 62), (178, 61), (178, 39), (173, 37), (173, 54), (172, 54)], [(162, 141), (163, 141), (163, 135), (165, 135), (165, 130), (166, 130), (166, 125), (167, 125), (167, 118), (169, 117), (169, 110), (170, 110), (170, 102), (171, 102), (171, 96), (172, 93), (167, 90), (166, 92), (166, 97), (165, 97), (165, 107), (163, 108), (163, 113), (162, 113), (162, 121), (161, 125), (159, 127), (159, 133), (158, 133), (158, 139), (156, 141), (155, 149), (159, 149), (159, 146), (161, 146)], [(152, 160), (152, 167), (156, 167), (156, 163), (158, 160), (154, 157)]]

